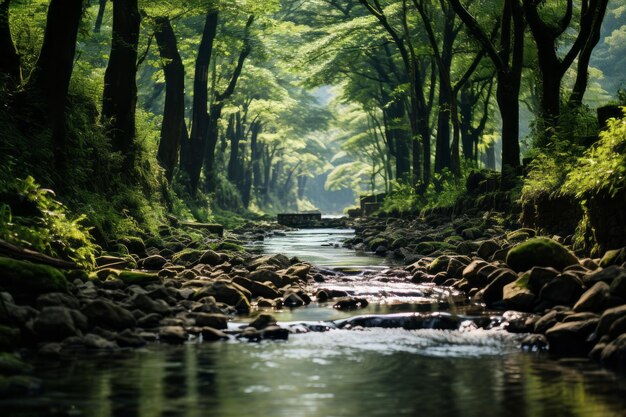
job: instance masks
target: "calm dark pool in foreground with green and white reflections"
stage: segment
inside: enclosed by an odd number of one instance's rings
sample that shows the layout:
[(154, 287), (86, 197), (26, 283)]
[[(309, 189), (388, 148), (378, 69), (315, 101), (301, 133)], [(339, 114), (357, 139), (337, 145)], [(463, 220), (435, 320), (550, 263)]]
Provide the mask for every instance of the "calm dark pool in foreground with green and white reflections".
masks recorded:
[(475, 336), (485, 348), (469, 355), (475, 340), (454, 332), (351, 333), (350, 343), (323, 333), (47, 361), (38, 369), (46, 395), (0, 402), (0, 414), (613, 417), (626, 409), (623, 378), (519, 353), (487, 332)]

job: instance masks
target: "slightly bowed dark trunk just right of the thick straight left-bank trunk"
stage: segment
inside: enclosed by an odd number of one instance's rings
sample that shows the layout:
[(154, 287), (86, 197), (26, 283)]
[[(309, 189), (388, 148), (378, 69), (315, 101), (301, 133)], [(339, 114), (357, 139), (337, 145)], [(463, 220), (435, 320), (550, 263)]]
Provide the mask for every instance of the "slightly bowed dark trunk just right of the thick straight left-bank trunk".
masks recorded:
[(165, 107), (157, 159), (168, 181), (172, 180), (180, 144), (187, 135), (185, 125), (185, 68), (178, 53), (176, 35), (169, 18), (155, 18), (154, 36), (165, 73)]

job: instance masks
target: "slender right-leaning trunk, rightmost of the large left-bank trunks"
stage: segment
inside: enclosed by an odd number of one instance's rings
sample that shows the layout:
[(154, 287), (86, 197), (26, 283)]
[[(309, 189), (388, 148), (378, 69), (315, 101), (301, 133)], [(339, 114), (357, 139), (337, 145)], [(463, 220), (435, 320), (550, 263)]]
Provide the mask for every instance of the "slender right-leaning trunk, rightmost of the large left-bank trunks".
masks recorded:
[(181, 168), (189, 177), (188, 191), (196, 195), (200, 182), (200, 171), (204, 160), (209, 130), (208, 88), (209, 66), (213, 54), (213, 42), (217, 33), (218, 12), (210, 10), (205, 19), (202, 40), (198, 48), (193, 83), (193, 108), (191, 134), (182, 148)]

